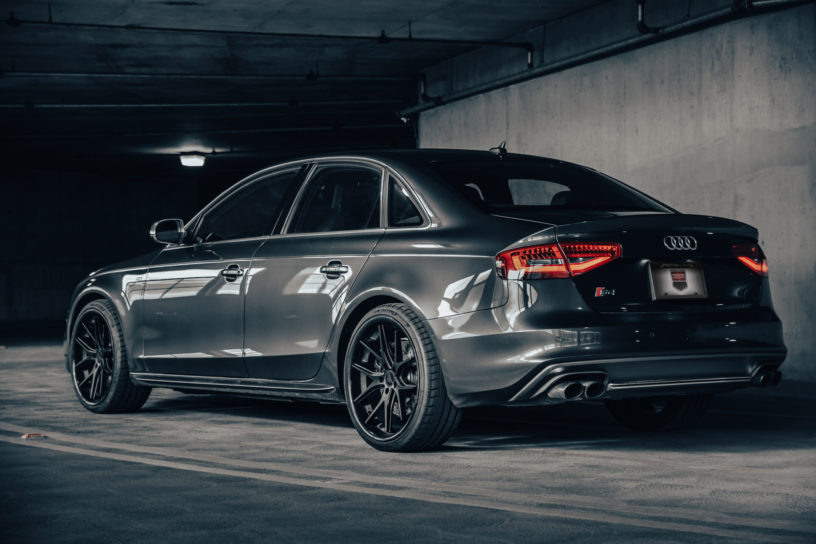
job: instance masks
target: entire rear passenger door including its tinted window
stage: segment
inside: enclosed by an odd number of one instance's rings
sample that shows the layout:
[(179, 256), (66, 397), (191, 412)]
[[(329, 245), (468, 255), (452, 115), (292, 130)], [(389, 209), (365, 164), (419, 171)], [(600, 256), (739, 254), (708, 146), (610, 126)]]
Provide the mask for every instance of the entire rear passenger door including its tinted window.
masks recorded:
[(340, 308), (384, 232), (382, 184), (373, 164), (316, 165), (284, 234), (258, 249), (246, 294), (251, 377), (305, 380), (320, 369)]

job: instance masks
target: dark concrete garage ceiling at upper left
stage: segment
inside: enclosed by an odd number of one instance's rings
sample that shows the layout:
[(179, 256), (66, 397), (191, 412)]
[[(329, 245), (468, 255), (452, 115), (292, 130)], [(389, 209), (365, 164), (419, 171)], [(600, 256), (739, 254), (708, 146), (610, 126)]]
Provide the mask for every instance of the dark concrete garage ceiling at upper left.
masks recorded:
[(0, 137), (99, 153), (410, 145), (395, 112), (423, 67), (596, 3), (2, 0)]

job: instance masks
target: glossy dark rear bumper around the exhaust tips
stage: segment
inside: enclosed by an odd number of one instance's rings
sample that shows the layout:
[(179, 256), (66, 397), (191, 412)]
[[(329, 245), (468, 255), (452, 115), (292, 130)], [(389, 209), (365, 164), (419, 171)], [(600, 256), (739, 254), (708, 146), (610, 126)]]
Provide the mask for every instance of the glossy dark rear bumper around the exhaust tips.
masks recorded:
[(594, 398), (728, 391), (759, 385), (760, 374), (787, 354), (773, 312), (626, 320), (557, 329), (517, 320), (511, 327), (494, 309), (429, 324), (459, 407), (562, 402), (548, 393), (570, 377), (602, 382)]

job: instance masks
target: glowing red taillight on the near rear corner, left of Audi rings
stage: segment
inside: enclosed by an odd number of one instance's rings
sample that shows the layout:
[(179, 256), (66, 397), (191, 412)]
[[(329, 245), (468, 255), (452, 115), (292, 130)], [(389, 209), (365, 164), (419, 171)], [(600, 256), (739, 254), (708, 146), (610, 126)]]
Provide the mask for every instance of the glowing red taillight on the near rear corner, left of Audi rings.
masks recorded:
[(568, 278), (588, 272), (620, 256), (620, 244), (544, 244), (502, 251), (496, 256), (496, 271), (504, 279)]

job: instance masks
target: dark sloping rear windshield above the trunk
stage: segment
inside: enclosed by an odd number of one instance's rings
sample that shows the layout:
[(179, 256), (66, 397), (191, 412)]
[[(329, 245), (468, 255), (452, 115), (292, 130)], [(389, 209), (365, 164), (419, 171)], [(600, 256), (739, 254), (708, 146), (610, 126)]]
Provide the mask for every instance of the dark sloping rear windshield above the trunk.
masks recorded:
[(431, 161), (430, 169), (489, 212), (535, 209), (660, 211), (670, 208), (589, 168), (546, 159)]

